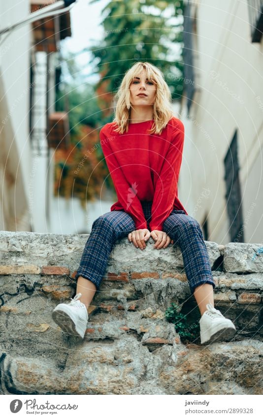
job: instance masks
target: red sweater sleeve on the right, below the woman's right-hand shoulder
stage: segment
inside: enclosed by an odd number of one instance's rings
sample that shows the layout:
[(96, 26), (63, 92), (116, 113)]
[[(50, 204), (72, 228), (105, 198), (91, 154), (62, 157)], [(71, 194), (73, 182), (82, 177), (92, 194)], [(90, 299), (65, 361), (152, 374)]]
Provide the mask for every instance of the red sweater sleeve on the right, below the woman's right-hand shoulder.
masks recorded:
[(173, 129), (170, 146), (164, 157), (158, 180), (155, 185), (150, 229), (163, 231), (163, 224), (173, 209), (177, 196), (177, 182), (182, 162), (184, 145), (184, 124), (179, 121)]

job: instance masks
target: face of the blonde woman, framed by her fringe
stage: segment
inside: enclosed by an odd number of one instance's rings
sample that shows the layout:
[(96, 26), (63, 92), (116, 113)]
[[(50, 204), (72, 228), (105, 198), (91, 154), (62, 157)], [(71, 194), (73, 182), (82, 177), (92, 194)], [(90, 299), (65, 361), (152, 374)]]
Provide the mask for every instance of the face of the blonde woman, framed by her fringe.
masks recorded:
[(146, 77), (146, 70), (135, 75), (131, 84), (131, 104), (134, 105), (153, 105), (156, 94), (156, 84), (149, 81)]

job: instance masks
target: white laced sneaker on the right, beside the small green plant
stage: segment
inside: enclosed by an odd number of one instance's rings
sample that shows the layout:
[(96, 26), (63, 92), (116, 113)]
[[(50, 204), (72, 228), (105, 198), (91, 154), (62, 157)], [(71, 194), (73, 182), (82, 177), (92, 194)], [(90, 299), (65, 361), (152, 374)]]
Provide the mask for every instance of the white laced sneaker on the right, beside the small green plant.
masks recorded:
[(212, 304), (207, 304), (206, 308), (199, 320), (201, 344), (230, 339), (236, 332), (231, 320), (223, 316)]

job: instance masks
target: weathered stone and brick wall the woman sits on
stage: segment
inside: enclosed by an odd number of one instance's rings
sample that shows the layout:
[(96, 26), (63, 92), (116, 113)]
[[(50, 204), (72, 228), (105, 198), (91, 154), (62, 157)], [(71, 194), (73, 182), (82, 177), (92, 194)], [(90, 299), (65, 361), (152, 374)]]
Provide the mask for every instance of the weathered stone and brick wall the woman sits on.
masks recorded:
[(206, 241), (216, 308), (231, 342), (182, 342), (164, 312), (200, 315), (180, 249), (119, 240), (89, 309), (84, 340), (53, 322), (74, 296), (88, 234), (0, 232), (0, 391), (3, 394), (262, 394), (263, 245)]

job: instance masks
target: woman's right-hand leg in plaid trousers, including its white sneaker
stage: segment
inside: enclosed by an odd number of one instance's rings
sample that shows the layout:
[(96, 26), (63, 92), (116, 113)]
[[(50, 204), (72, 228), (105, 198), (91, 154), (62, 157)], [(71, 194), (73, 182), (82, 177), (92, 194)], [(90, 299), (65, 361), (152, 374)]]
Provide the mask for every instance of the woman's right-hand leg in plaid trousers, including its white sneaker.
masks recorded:
[(201, 318), (200, 342), (208, 344), (229, 340), (236, 332), (234, 324), (214, 307), (215, 283), (200, 226), (193, 217), (172, 212), (164, 222), (164, 231), (179, 245), (191, 292)]

